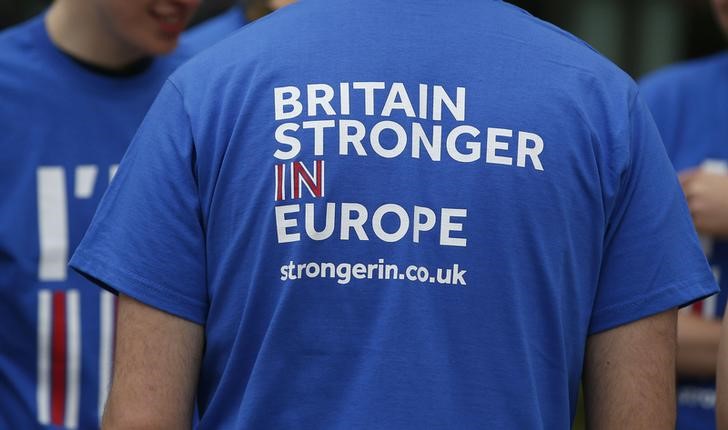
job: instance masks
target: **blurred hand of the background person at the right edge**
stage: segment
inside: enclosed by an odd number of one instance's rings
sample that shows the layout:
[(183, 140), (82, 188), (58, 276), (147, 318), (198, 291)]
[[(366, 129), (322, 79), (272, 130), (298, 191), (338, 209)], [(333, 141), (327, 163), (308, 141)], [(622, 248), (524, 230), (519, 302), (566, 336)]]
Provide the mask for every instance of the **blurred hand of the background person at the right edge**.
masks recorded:
[(695, 169), (679, 177), (698, 233), (728, 237), (728, 175)]

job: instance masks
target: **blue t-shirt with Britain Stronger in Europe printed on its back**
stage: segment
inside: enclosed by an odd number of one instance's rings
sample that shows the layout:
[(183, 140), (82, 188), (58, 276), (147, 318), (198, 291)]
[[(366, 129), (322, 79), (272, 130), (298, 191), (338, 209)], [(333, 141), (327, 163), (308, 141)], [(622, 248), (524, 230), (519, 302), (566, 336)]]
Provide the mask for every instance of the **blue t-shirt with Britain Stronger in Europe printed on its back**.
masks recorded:
[(71, 264), (204, 324), (202, 429), (568, 428), (589, 335), (716, 291), (634, 82), (482, 0), (196, 57)]

